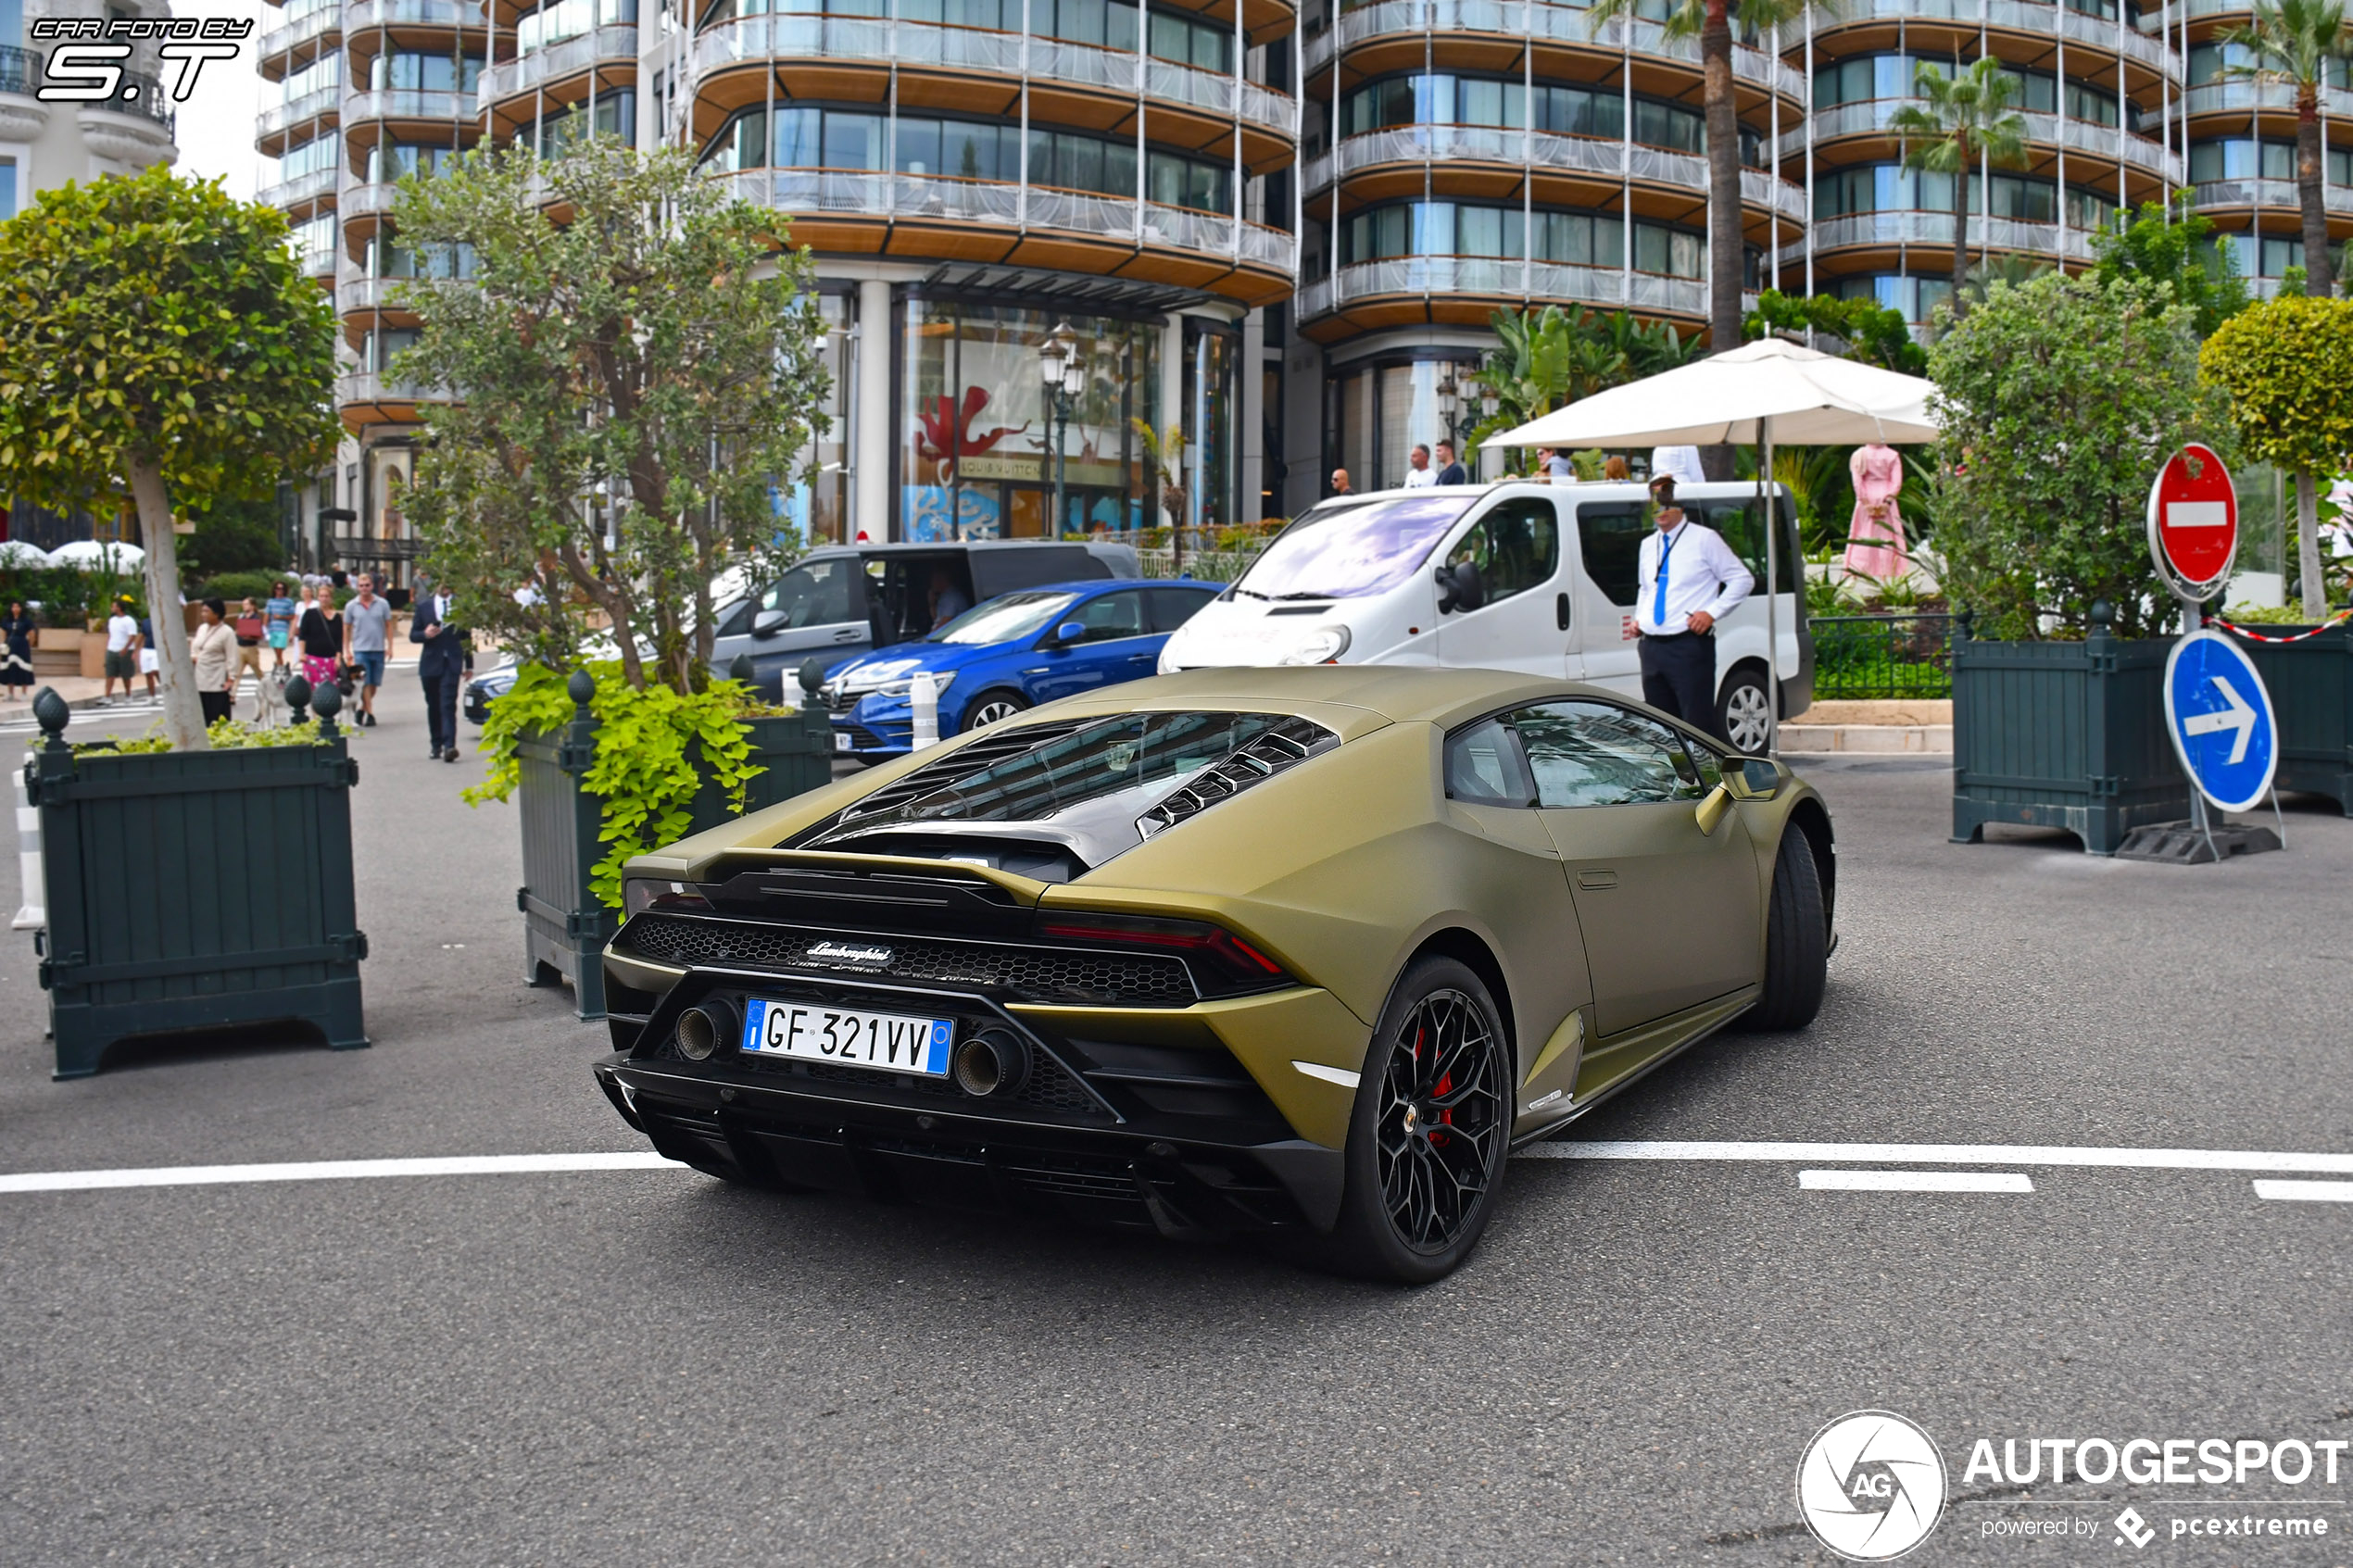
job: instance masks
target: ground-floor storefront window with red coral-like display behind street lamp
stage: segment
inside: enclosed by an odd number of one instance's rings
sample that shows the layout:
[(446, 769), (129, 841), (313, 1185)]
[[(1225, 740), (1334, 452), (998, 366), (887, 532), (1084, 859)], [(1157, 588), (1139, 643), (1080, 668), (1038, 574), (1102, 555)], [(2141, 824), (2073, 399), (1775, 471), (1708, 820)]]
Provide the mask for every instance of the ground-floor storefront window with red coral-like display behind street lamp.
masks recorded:
[[(1078, 334), (1085, 390), (1064, 437), (1066, 515), (1054, 510), (1052, 407), (1038, 346)], [(1042, 538), (1162, 522), (1132, 421), (1160, 409), (1160, 324), (1026, 306), (906, 301), (899, 402), (899, 538)]]

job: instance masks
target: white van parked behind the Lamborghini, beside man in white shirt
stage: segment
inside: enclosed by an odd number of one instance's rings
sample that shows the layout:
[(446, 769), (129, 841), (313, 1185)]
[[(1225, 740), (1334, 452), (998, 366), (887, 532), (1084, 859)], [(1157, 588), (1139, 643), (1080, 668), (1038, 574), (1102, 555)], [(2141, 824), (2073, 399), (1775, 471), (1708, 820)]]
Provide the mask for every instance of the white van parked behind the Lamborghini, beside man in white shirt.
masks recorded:
[[(1744, 752), (1767, 738), (1765, 531), (1755, 484), (1682, 484), (1682, 510), (1725, 536), (1758, 578), (1715, 632), (1715, 705)], [(1814, 701), (1805, 557), (1781, 517), (1781, 717)], [(1282, 529), (1186, 621), (1160, 672), (1202, 665), (1475, 665), (1584, 679), (1642, 696), (1635, 559), (1654, 529), (1640, 484), (1447, 484), (1337, 496)]]

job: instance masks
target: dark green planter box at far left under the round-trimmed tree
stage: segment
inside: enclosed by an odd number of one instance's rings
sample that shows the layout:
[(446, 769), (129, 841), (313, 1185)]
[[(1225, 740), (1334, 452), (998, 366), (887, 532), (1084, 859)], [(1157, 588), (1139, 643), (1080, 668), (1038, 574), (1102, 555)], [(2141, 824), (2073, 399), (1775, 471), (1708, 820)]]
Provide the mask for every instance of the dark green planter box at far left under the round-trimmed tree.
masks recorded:
[[(54, 701), (54, 693), (45, 693)], [(54, 726), (49, 726), (54, 717)], [(64, 705), (26, 759), (40, 809), (54, 1077), (132, 1034), (301, 1020), (367, 1044), (344, 741), (75, 755)]]

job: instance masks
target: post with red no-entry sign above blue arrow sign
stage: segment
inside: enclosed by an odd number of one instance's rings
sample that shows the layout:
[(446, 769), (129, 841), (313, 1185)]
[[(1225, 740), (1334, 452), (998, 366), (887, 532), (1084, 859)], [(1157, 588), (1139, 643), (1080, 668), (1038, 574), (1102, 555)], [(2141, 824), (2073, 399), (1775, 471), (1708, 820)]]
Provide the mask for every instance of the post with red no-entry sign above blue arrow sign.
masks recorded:
[[(2165, 661), (2165, 729), (2181, 771), (2191, 778), (2191, 835), (2221, 860), (2207, 804), (2217, 811), (2252, 811), (2271, 792), (2280, 762), (2280, 726), (2271, 693), (2254, 663), (2228, 637), (2205, 630), (2202, 604), (2231, 581), (2238, 557), (2238, 489), (2212, 447), (2181, 447), (2148, 487), (2148, 555), (2158, 576), (2181, 602), (2181, 642)], [(2191, 844), (2179, 830), (2137, 830), (2153, 842), (2132, 846), (2132, 858), (2186, 860)], [(2261, 830), (2226, 825), (2233, 849), (2278, 849)], [(2118, 851), (2127, 853), (2127, 851)]]

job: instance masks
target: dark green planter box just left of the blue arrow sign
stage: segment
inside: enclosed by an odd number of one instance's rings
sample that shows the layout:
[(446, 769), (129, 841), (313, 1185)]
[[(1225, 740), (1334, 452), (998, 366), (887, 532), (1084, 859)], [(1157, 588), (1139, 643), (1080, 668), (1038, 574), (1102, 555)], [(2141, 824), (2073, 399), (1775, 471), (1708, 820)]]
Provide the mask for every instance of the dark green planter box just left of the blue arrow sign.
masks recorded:
[(1977, 642), (1953, 630), (1953, 842), (1986, 823), (2064, 827), (2113, 856), (2144, 823), (2191, 813), (2165, 736), (2165, 637)]

